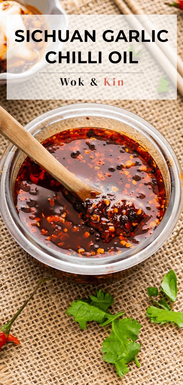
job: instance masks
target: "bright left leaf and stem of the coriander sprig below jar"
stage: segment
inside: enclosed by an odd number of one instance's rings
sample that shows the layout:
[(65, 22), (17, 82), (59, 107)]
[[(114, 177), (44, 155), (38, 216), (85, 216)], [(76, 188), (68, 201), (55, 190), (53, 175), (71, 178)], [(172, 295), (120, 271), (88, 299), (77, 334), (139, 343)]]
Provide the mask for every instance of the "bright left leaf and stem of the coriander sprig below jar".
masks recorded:
[[(66, 314), (74, 317), (74, 321), (79, 323), (81, 329), (87, 329), (86, 323), (88, 321), (96, 321), (100, 323), (101, 326), (105, 326), (123, 315), (124, 311), (111, 315), (83, 300), (77, 300), (71, 303)], [(106, 318), (107, 320), (103, 323), (103, 320)]]

